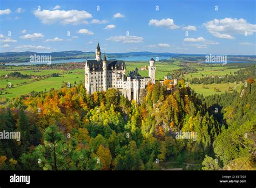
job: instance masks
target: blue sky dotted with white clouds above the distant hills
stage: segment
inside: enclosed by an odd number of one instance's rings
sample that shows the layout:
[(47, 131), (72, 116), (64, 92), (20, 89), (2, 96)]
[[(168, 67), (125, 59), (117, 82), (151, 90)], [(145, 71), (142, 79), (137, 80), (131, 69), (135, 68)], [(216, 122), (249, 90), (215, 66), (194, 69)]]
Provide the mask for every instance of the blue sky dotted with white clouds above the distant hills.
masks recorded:
[(0, 50), (256, 55), (255, 2), (1, 0)]

